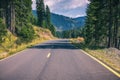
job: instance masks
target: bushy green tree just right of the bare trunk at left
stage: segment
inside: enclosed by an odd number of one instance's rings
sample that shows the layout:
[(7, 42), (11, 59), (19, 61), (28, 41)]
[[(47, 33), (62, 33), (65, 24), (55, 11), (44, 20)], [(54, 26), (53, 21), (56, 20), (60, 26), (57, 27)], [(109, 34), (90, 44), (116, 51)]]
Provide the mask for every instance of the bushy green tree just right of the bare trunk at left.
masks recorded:
[[(31, 0), (16, 2), (16, 34), (21, 42), (29, 42), (34, 38), (34, 30), (30, 23), (34, 23), (34, 17), (31, 13)], [(20, 41), (18, 41), (20, 42)]]

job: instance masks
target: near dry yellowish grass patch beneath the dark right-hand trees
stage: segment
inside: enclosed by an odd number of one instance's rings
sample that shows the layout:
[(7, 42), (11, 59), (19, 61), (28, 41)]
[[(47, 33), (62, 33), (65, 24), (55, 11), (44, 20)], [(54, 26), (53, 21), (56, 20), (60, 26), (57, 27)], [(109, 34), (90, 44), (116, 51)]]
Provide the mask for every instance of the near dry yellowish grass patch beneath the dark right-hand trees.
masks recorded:
[(114, 48), (90, 50), (85, 49), (86, 52), (98, 58), (118, 73), (120, 73), (120, 51)]

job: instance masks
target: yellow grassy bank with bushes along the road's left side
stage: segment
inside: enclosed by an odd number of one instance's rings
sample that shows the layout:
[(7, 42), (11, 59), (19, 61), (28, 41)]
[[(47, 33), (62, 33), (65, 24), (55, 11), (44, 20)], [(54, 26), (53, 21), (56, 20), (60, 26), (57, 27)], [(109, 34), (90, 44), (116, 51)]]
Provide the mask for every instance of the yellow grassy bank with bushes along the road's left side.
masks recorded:
[(1, 44), (2, 46), (0, 46), (0, 59), (6, 58), (10, 55), (15, 54), (16, 52), (22, 51), (28, 47), (42, 43), (46, 40), (55, 39), (48, 29), (34, 26), (34, 30), (36, 36), (35, 39), (33, 39), (29, 43), (21, 43), (20, 45), (16, 44), (16, 40), (18, 38), (8, 31), (7, 36), (5, 36), (4, 42)]

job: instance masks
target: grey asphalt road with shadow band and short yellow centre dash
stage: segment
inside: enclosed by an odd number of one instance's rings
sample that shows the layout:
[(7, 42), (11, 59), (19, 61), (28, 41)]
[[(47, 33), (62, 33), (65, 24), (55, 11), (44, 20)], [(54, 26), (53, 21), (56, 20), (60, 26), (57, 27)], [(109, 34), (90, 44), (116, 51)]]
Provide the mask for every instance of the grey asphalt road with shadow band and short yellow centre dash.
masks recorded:
[(48, 41), (0, 61), (0, 80), (120, 80), (68, 40)]

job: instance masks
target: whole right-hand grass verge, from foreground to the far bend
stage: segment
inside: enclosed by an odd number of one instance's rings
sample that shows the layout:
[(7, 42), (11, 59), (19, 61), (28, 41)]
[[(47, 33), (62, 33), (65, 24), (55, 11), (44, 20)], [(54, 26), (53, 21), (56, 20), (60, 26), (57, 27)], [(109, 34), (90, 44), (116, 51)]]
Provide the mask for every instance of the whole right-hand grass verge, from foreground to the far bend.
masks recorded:
[(117, 50), (115, 48), (108, 49), (99, 47), (95, 49), (90, 49), (84, 45), (84, 42), (75, 43), (74, 41), (72, 41), (72, 43), (77, 48), (83, 49), (88, 54), (99, 59), (120, 74), (120, 50)]

